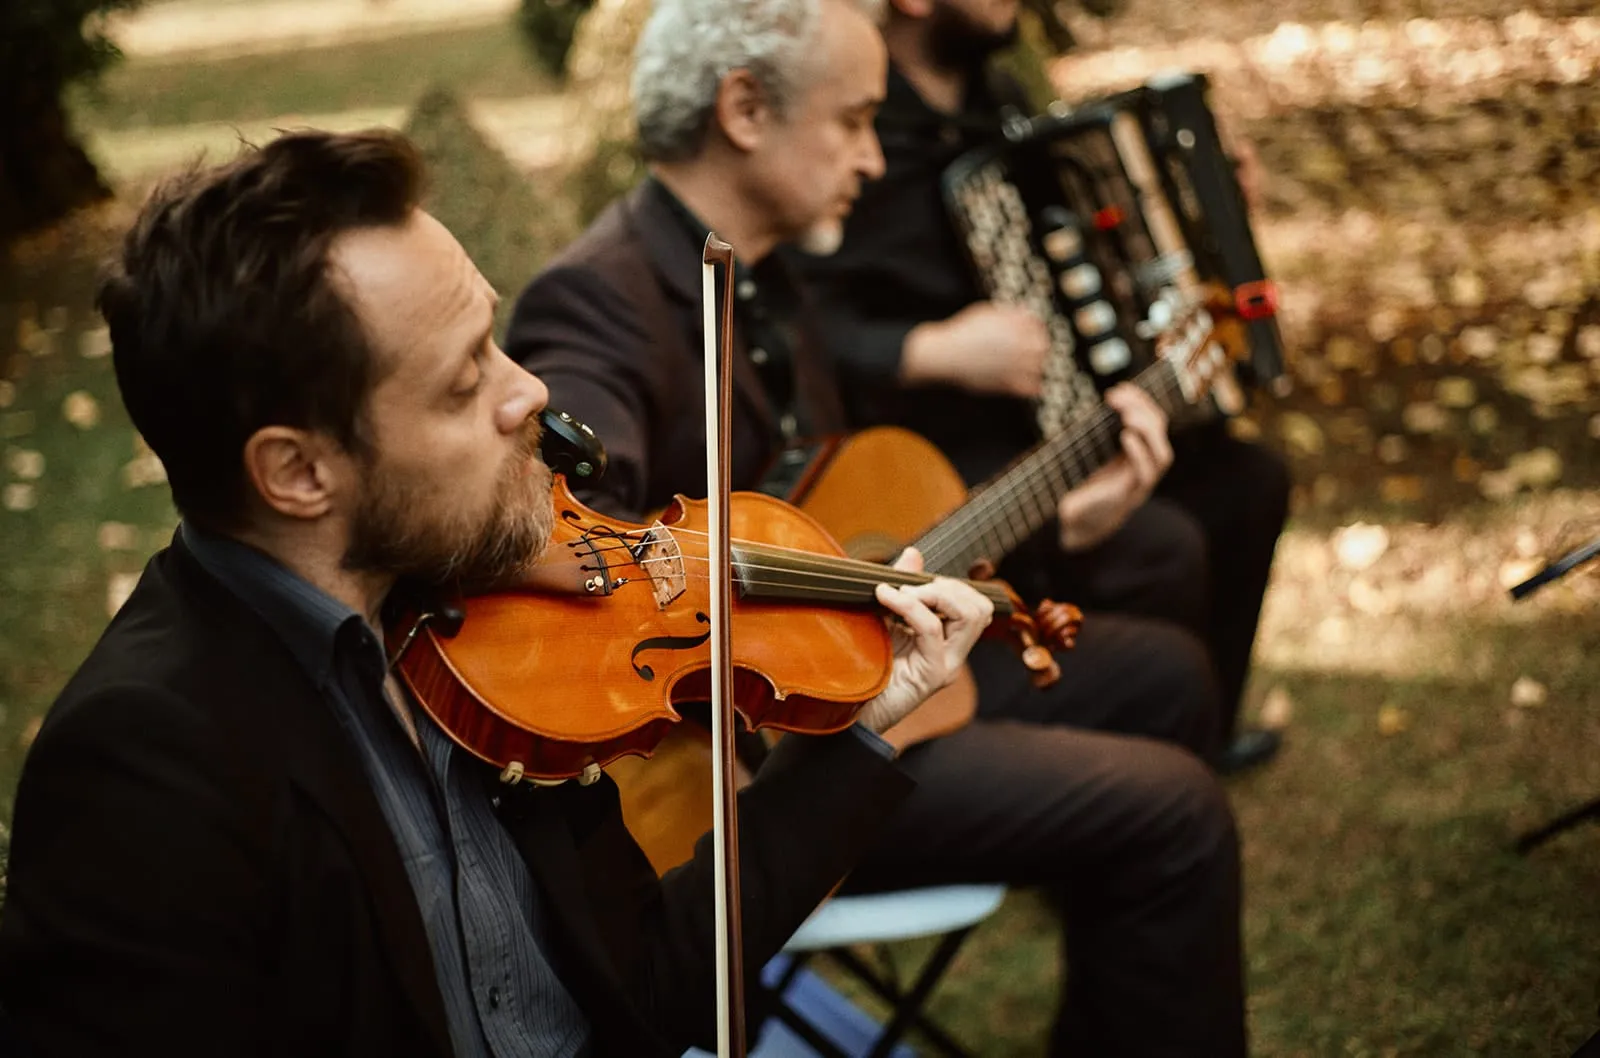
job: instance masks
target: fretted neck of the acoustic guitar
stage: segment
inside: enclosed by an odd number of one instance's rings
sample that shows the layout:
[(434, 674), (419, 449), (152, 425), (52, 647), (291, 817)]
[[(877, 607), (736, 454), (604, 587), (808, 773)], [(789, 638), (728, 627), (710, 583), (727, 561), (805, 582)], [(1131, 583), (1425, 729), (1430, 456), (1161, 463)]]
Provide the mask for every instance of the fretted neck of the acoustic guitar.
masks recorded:
[[(1187, 405), (1178, 371), (1165, 359), (1147, 367), (1133, 383), (1168, 416)], [(1120, 435), (1120, 416), (1101, 405), (1019, 456), (914, 541), (925, 568), (966, 576), (979, 560), (998, 563), (1056, 517), (1062, 496), (1122, 451)]]

